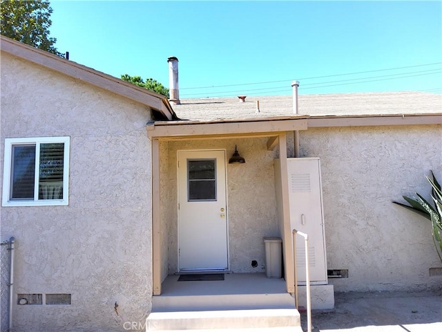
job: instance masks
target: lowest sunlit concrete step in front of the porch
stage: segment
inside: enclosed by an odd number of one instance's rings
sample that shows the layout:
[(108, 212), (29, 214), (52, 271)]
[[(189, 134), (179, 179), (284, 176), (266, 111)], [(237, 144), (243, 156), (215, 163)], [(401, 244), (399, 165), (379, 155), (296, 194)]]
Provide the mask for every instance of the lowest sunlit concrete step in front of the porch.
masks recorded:
[[(300, 329), (295, 308), (154, 312), (146, 320), (146, 331), (285, 331)], [(233, 329), (233, 330), (232, 330)], [(235, 330), (236, 329), (236, 330)], [(271, 329), (271, 330), (269, 330)]]

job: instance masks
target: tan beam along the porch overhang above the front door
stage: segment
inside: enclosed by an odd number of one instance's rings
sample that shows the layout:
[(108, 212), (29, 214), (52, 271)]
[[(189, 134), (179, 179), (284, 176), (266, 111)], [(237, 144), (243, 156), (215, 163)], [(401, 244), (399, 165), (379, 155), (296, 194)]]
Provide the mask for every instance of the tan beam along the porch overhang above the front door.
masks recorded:
[(189, 139), (232, 137), (232, 136), (275, 136), (275, 133), (306, 130), (307, 118), (292, 118), (283, 120), (253, 120), (233, 122), (155, 122), (147, 125), (148, 137)]

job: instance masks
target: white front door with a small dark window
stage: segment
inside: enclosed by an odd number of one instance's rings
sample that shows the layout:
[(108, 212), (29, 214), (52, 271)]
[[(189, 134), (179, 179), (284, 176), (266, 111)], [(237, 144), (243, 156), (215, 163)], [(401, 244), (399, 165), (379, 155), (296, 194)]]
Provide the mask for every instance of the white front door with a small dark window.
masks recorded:
[(178, 151), (178, 261), (227, 270), (225, 151)]

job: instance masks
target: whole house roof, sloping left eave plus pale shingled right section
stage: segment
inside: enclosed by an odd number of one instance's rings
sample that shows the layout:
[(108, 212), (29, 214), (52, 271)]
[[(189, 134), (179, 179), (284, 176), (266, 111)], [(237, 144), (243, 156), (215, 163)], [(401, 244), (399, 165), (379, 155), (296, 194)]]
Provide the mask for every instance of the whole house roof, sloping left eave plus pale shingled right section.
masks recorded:
[[(309, 127), (327, 127), (340, 125), (343, 122), (334, 121), (333, 124), (330, 124), (330, 122), (324, 121), (315, 122), (315, 119), (340, 118), (343, 120), (349, 117), (383, 117), (382, 120), (387, 120), (401, 116), (427, 116), (427, 120), (418, 120), (417, 123), (439, 123), (442, 118), (442, 95), (421, 92), (299, 95), (298, 114), (294, 114), (291, 95), (249, 96), (245, 102), (240, 102), (237, 97), (184, 99), (181, 100), (181, 104), (172, 108), (169, 100), (163, 95), (7, 37), (1, 36), (0, 40), (2, 52), (10, 53), (76, 80), (106, 89), (160, 112), (162, 120), (166, 121), (155, 121), (155, 125), (280, 120), (291, 122), (296, 119), (300, 120), (300, 118), (309, 118)], [(258, 101), (259, 112), (256, 111)], [(180, 121), (180, 119), (186, 121)], [(170, 120), (175, 121), (170, 122)], [(189, 122), (189, 120), (192, 121)], [(381, 120), (378, 119), (376, 122), (364, 123), (365, 125), (368, 123), (376, 125), (380, 122)], [(361, 121), (352, 122), (352, 125), (361, 123)], [(385, 122), (385, 124), (387, 123)], [(398, 124), (399, 122), (393, 120), (391, 123)], [(416, 120), (400, 123), (416, 123)]]

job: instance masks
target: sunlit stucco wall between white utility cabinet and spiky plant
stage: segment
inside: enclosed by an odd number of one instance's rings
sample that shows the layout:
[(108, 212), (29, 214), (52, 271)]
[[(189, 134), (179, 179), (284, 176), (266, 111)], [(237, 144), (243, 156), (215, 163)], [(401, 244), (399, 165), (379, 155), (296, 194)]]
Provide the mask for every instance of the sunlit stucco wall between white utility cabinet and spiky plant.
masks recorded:
[(441, 125), (300, 132), (301, 156), (321, 160), (327, 267), (348, 269), (348, 279), (329, 279), (335, 291), (442, 287), (429, 276), (442, 266), (430, 221), (392, 203), (430, 199), (425, 174), (442, 179), (441, 143)]

